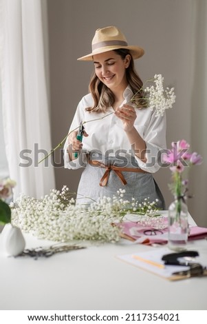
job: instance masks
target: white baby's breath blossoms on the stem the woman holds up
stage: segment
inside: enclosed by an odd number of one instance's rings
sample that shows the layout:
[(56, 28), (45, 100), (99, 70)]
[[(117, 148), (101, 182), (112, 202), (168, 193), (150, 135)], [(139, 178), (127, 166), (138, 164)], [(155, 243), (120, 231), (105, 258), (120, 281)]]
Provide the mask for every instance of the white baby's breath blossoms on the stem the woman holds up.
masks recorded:
[(155, 116), (163, 116), (164, 110), (172, 108), (175, 103), (174, 88), (164, 90), (162, 74), (155, 74), (153, 81), (155, 85), (146, 87), (144, 92), (149, 100), (149, 108), (155, 110)]

